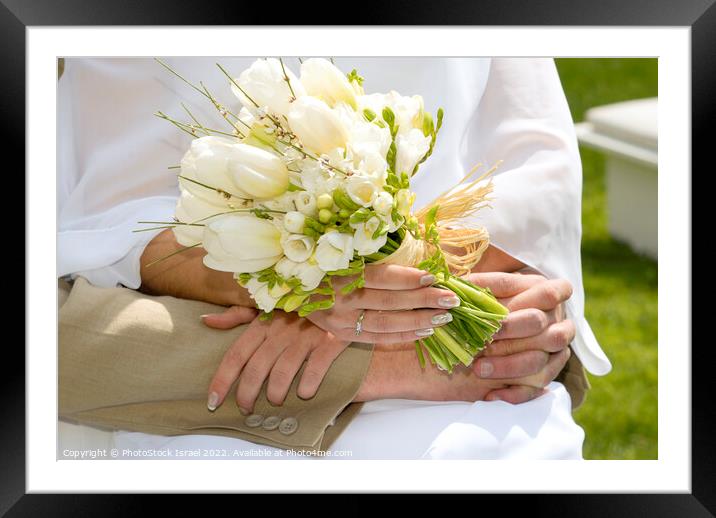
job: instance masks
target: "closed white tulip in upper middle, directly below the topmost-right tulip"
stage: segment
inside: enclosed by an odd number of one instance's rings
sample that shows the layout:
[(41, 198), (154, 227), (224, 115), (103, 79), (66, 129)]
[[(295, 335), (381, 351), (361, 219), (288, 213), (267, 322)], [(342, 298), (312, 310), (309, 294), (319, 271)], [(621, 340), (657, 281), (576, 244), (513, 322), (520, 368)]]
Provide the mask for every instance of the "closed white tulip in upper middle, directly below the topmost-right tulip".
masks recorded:
[(345, 148), (348, 133), (338, 116), (326, 103), (315, 97), (300, 97), (291, 103), (288, 124), (298, 140), (318, 154)]

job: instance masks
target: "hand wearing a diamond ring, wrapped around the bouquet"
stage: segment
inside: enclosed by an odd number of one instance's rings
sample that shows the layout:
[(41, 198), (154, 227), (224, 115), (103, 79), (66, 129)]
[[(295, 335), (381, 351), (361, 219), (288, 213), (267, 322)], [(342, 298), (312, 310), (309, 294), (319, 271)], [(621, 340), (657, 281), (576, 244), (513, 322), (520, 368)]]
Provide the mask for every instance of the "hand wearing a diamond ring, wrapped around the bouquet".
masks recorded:
[[(453, 292), (431, 287), (435, 278), (416, 268), (368, 265), (365, 286), (341, 294), (352, 280), (334, 278), (334, 306), (308, 316), (321, 329), (347, 341), (392, 344), (430, 336), (433, 328), (452, 320), (447, 310), (460, 304)], [(356, 335), (363, 312), (362, 331)]]

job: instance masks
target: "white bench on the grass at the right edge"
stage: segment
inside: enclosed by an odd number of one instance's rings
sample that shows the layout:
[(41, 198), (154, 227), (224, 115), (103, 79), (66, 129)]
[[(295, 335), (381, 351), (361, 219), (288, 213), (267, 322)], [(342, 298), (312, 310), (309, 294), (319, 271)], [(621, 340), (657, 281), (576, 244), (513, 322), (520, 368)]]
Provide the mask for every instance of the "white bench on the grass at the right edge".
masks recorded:
[(592, 108), (585, 119), (577, 138), (606, 154), (609, 233), (657, 259), (657, 98)]

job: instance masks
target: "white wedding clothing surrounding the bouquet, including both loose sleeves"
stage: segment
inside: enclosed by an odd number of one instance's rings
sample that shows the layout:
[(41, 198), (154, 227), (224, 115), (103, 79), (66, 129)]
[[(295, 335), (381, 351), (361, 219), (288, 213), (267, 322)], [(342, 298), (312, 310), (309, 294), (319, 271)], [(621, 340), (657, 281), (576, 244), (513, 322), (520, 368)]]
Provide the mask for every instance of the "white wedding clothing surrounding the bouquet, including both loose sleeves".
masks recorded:
[[(166, 61), (231, 103), (229, 85), (214, 63), (238, 74), (253, 59)], [(296, 59), (285, 61), (298, 65)], [(609, 360), (584, 319), (581, 164), (552, 60), (338, 58), (336, 64), (356, 68), (368, 93), (421, 94), (427, 110), (445, 109), (435, 152), (413, 182), (416, 207), (473, 165), (503, 161), (494, 177), (492, 208), (475, 223), (511, 256), (547, 277), (571, 281), (574, 295), (566, 306), (577, 328), (572, 349), (593, 374), (609, 372)], [(176, 171), (167, 166), (179, 163), (189, 139), (151, 114), (178, 116), (183, 101), (204, 121), (217, 121), (214, 127), (220, 119), (204, 98), (151, 59), (67, 59), (58, 101), (58, 273), (82, 275), (98, 286), (137, 288), (139, 257), (154, 234), (132, 230), (137, 221), (173, 216)], [(367, 403), (331, 451), (380, 459), (574, 459), (581, 458), (583, 439), (564, 387), (552, 383), (547, 394), (522, 405)], [(257, 449), (239, 439), (200, 435), (116, 432), (113, 440), (120, 449)]]

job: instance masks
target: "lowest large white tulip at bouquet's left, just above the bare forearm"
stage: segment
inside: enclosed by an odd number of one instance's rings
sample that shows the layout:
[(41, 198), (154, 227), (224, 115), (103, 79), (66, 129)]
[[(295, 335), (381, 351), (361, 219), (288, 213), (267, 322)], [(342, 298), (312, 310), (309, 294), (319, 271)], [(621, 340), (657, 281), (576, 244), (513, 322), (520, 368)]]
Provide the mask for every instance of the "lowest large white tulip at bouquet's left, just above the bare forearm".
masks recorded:
[(258, 272), (283, 256), (279, 229), (265, 219), (244, 215), (219, 216), (208, 223), (204, 248), (204, 264), (222, 272)]

